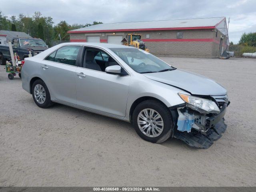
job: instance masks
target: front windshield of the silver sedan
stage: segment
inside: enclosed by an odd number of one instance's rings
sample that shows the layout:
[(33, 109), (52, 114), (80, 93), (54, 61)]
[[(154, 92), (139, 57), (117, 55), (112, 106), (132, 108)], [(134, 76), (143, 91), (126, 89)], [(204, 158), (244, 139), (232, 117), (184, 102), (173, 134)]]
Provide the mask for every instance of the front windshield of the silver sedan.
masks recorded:
[(156, 73), (176, 68), (168, 65), (154, 55), (137, 48), (110, 48), (126, 64), (138, 73)]

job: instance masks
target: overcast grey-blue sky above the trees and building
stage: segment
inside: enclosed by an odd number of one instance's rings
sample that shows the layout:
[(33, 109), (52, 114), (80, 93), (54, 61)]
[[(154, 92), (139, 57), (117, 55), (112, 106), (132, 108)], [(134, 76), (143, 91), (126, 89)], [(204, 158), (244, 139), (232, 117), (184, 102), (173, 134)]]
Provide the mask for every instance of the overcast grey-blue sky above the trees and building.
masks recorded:
[(40, 11), (55, 24), (175, 20), (225, 16), (230, 42), (237, 43), (243, 32), (256, 32), (256, 0), (0, 0), (5, 16)]

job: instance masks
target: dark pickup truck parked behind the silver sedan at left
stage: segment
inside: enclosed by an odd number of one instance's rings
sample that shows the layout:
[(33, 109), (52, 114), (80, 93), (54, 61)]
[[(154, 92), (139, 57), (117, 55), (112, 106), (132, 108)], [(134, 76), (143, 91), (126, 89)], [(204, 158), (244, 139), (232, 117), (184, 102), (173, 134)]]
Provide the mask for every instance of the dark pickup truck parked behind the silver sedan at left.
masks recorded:
[[(29, 51), (32, 56), (48, 49), (48, 46), (42, 39), (37, 38), (13, 38), (12, 39), (13, 52), (17, 53), (20, 60), (28, 57)], [(11, 59), (10, 50), (8, 46), (0, 46), (0, 65), (5, 65), (6, 60)]]

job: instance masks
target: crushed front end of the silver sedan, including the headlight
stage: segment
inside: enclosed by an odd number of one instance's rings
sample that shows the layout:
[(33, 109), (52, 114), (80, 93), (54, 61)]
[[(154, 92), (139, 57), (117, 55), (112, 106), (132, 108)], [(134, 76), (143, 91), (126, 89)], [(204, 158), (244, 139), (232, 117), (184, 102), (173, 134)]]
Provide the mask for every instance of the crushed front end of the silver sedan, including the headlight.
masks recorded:
[(185, 104), (177, 108), (173, 137), (195, 148), (209, 148), (227, 128), (228, 96), (180, 96)]

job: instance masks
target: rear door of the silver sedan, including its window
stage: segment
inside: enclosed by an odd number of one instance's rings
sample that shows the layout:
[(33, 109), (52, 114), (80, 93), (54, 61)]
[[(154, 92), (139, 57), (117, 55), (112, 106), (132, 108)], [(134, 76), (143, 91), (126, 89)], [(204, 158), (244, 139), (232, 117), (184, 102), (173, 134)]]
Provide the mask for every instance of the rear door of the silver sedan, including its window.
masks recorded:
[(40, 73), (51, 97), (60, 102), (76, 104), (76, 59), (82, 46), (62, 46), (43, 60)]

